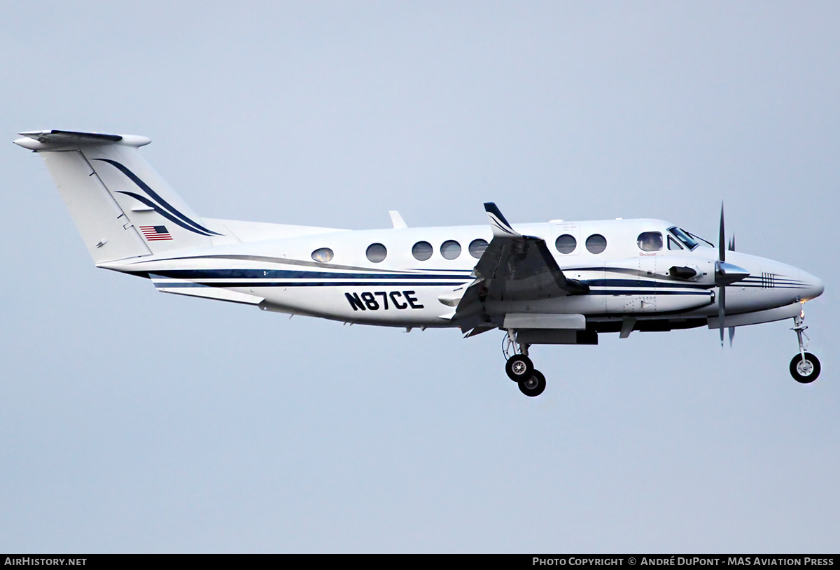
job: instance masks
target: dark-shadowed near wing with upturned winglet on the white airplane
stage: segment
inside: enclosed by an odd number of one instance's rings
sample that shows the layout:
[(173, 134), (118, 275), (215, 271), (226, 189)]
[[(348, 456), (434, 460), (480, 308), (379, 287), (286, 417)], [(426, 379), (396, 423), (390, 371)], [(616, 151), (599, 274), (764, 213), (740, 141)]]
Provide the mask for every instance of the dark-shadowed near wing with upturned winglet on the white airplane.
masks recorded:
[(544, 239), (518, 233), (496, 204), (487, 202), (484, 207), (493, 239), (475, 264), (475, 281), (455, 311), (461, 331), (490, 330), (501, 325), (504, 315), (488, 314), (487, 301), (535, 301), (589, 292), (588, 285), (563, 275)]

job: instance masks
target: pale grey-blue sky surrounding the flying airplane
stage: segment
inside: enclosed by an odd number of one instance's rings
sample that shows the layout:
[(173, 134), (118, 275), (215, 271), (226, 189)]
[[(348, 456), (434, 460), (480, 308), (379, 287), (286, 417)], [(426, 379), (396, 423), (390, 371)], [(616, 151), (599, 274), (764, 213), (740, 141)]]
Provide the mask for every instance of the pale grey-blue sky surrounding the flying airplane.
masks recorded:
[[(837, 3), (3, 3), (0, 550), (837, 552)], [(537, 348), (92, 266), (37, 128), (150, 136), (197, 212), (663, 217), (826, 283), (790, 324)]]

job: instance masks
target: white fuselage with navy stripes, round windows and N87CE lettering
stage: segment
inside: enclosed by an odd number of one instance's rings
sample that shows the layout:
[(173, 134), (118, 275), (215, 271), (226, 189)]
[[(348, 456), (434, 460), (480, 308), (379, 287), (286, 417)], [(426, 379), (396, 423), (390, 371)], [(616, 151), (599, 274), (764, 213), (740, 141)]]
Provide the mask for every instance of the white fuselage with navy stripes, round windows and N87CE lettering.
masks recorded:
[[(249, 233), (244, 222), (207, 218), (205, 222), (228, 238), (184, 256), (171, 252), (101, 266), (148, 274), (165, 292), (253, 304), (269, 311), (393, 327), (454, 327), (458, 326), (453, 320), (457, 299), (475, 279), (472, 272), (478, 258), (470, 254), (470, 243), (492, 239), (488, 226), (349, 231), (260, 224), (260, 231), (246, 238), (255, 241), (244, 241), (240, 236)], [(263, 230), (271, 227), (277, 228), (276, 235), (268, 237), (271, 232)], [(544, 239), (564, 275), (589, 285), (590, 292), (543, 301), (499, 301), (497, 306), (488, 306), (488, 312), (573, 313), (585, 315), (588, 322), (615, 322), (633, 316), (640, 321), (665, 320), (678, 327), (692, 319), (702, 319), (705, 324), (707, 317), (717, 315), (717, 249), (702, 243), (689, 249), (677, 243), (669, 234), (674, 224), (635, 219), (513, 227), (524, 235)], [(639, 243), (643, 233), (659, 233), (661, 247), (643, 250)], [(600, 253), (590, 251), (596, 251), (598, 243), (587, 247), (593, 235), (606, 240)], [(555, 246), (561, 236), (568, 253)], [(568, 236), (574, 238), (571, 250)], [(431, 245), (428, 259), (412, 254), (420, 242)], [(459, 252), (452, 242), (457, 243)], [(378, 262), (366, 255), (376, 243), (386, 250), (385, 258)], [(444, 257), (444, 243), (448, 243), (446, 254), (452, 259)], [(320, 248), (331, 250), (332, 258), (326, 262), (313, 259), (313, 252)], [(480, 257), (480, 251), (475, 253)], [(822, 293), (822, 281), (790, 265), (738, 252), (727, 252), (727, 262), (749, 273), (727, 286), (727, 315), (790, 306)], [(695, 275), (675, 278), (675, 267), (690, 268)]]

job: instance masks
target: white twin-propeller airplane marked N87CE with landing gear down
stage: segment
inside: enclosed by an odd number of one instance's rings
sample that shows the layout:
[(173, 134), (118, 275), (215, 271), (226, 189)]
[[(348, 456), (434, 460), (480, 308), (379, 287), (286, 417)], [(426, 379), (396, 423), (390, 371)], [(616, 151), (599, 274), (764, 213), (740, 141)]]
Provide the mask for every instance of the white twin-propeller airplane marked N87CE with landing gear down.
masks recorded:
[[(486, 226), (345, 230), (200, 217), (141, 156), (138, 135), (43, 130), (14, 141), (40, 154), (97, 267), (159, 291), (290, 315), (385, 327), (501, 330), (507, 376), (538, 396), (535, 344), (598, 335), (724, 329), (792, 318), (790, 374), (819, 376), (806, 352), (814, 275), (724, 247), (657, 219), (511, 224), (493, 202)], [(803, 339), (804, 337), (804, 339)]]

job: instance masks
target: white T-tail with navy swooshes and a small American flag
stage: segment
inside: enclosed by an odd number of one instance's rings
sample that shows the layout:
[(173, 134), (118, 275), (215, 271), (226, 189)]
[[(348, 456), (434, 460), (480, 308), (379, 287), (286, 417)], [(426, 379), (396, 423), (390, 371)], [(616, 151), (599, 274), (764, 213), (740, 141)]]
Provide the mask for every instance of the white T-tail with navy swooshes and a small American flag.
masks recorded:
[(44, 159), (97, 264), (212, 245), (217, 233), (139, 154), (134, 135), (35, 131), (18, 144)]

